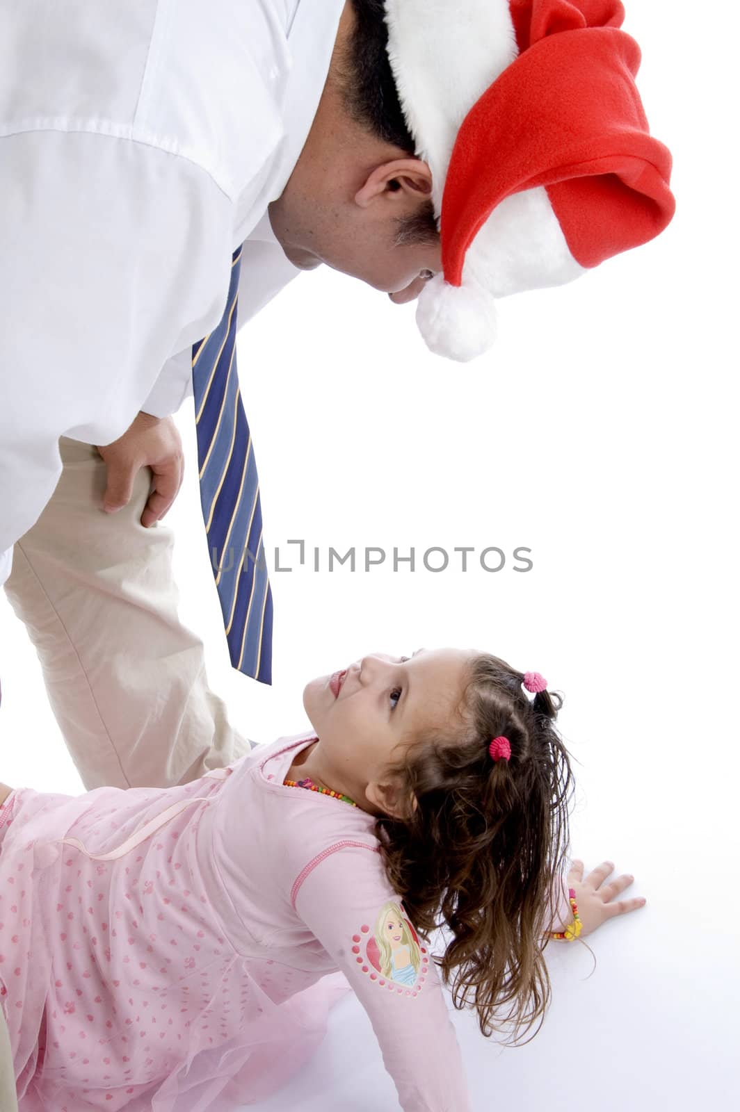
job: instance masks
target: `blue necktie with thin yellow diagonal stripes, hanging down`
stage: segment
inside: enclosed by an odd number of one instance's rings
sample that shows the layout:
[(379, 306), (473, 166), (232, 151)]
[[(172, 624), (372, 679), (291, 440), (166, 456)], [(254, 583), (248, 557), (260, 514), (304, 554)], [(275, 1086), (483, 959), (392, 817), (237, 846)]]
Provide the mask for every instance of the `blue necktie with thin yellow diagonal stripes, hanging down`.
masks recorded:
[(273, 594), (267, 578), (259, 481), (236, 370), (241, 247), (231, 258), (226, 311), (193, 347), (200, 505), (231, 664), (272, 683)]

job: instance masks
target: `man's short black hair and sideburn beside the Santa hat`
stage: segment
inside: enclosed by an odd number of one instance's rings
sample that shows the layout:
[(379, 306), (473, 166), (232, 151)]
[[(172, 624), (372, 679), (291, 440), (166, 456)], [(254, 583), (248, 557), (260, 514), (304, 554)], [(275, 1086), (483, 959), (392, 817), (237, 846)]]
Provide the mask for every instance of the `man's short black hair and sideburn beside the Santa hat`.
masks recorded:
[[(355, 27), (342, 60), (339, 80), (349, 116), (371, 135), (399, 147), (412, 158), (416, 145), (398, 100), (388, 61), (388, 28), (383, 0), (352, 0)], [(438, 240), (432, 201), (398, 220), (396, 244), (427, 245)]]

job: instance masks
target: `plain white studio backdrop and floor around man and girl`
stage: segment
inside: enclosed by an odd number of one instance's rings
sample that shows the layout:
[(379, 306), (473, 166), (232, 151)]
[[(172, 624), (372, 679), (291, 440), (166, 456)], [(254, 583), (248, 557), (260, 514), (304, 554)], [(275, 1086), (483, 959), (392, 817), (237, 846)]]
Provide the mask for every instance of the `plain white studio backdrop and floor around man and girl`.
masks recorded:
[[(322, 562), (273, 575), (272, 689), (229, 668), (189, 404), (179, 418), (181, 613), (248, 736), (302, 729), (304, 683), (374, 649), (474, 645), (565, 695), (572, 852), (633, 872), (648, 904), (589, 940), (589, 980), (584, 947), (552, 954), (553, 1005), (527, 1046), (502, 1052), (455, 1016), (476, 1112), (737, 1106), (733, 9), (633, 0), (626, 29), (652, 130), (674, 153), (675, 219), (570, 287), (502, 302), (491, 355), (435, 359), (413, 308), (328, 270), (240, 331), (266, 540), (284, 564), (297, 563), (289, 538)], [(353, 545), (413, 547), (417, 569), (329, 574), (328, 547)], [(463, 545), (527, 546), (534, 567), (418, 566), (431, 546)], [(4, 599), (0, 622), (0, 778), (78, 792)], [(263, 1105), (396, 1106), (354, 1000), (309, 1070)]]

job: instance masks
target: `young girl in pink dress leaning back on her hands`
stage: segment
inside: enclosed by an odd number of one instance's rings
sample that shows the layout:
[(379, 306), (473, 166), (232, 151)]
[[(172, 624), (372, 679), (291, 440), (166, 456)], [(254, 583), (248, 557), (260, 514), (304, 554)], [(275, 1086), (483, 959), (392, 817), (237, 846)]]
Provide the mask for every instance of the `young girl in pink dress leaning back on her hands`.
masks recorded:
[[(533, 696), (533, 697), (532, 697)], [(644, 901), (568, 883), (568, 753), (537, 674), (369, 655), (314, 732), (170, 788), (0, 791), (0, 1000), (21, 1112), (227, 1112), (320, 1041), (341, 971), (406, 1112), (470, 1108), (442, 981), (481, 1030), (542, 1020), (550, 931)], [(435, 959), (430, 933), (445, 927)], [(440, 973), (442, 976), (440, 977)]]

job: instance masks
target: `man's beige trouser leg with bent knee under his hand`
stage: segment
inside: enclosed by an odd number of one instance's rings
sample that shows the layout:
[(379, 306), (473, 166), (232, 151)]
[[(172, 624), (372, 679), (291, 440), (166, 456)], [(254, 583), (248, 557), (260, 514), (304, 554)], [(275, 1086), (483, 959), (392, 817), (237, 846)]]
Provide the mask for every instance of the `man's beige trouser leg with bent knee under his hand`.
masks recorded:
[(139, 522), (149, 470), (128, 506), (103, 514), (96, 449), (66, 438), (59, 448), (59, 484), (16, 544), (6, 590), (85, 786), (168, 786), (230, 764), (249, 743), (208, 687), (203, 643), (178, 618), (172, 534)]

